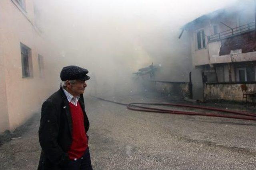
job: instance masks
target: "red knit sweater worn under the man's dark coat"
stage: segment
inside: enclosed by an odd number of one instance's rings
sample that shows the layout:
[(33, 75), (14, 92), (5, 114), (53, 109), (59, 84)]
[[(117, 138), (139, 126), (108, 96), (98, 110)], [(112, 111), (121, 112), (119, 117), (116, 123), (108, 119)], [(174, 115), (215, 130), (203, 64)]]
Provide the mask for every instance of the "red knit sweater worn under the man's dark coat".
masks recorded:
[(81, 158), (84, 151), (88, 147), (88, 139), (86, 137), (86, 132), (84, 129), (84, 114), (82, 107), (79, 102), (77, 106), (69, 102), (70, 113), (72, 117), (72, 144), (70, 150), (68, 151), (68, 156), (70, 159), (75, 160)]

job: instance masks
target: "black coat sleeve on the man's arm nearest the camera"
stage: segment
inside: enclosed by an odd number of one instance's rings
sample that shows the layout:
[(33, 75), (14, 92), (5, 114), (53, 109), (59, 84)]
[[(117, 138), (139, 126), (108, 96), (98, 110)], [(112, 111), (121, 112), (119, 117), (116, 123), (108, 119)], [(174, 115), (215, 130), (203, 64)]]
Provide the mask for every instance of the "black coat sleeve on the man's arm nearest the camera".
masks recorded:
[(44, 150), (45, 156), (53, 164), (64, 166), (70, 159), (58, 145), (58, 117), (56, 107), (52, 101), (46, 100), (42, 105), (41, 120), (39, 127), (39, 143)]

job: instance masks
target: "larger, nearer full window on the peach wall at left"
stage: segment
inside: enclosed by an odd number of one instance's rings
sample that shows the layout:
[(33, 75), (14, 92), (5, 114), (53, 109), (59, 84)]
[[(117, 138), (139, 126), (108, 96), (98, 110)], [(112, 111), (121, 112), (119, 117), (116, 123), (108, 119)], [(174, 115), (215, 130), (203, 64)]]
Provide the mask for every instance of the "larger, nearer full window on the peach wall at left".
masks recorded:
[(32, 57), (31, 49), (26, 45), (20, 43), (21, 63), (22, 63), (22, 77), (32, 77)]

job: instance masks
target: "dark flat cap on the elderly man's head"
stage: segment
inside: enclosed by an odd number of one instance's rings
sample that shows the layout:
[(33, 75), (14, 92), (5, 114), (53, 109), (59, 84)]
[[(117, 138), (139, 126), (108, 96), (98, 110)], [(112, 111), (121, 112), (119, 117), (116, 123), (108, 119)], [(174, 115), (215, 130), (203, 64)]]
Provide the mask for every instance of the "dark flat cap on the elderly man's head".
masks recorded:
[(60, 79), (62, 81), (66, 80), (89, 80), (90, 77), (86, 74), (88, 70), (81, 68), (79, 66), (66, 66), (63, 67), (60, 72)]

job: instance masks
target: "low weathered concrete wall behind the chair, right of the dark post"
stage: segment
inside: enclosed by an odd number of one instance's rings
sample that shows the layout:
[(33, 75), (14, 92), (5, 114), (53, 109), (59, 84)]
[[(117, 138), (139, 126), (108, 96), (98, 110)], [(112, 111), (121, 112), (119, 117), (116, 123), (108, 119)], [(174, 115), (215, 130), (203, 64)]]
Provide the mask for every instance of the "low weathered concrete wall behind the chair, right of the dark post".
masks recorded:
[[(255, 84), (246, 84), (249, 92), (256, 92)], [(242, 101), (241, 84), (204, 84), (204, 98), (206, 100)], [(252, 102), (253, 98), (248, 97)], [(255, 102), (256, 98), (254, 98)]]

